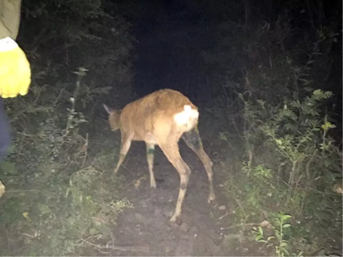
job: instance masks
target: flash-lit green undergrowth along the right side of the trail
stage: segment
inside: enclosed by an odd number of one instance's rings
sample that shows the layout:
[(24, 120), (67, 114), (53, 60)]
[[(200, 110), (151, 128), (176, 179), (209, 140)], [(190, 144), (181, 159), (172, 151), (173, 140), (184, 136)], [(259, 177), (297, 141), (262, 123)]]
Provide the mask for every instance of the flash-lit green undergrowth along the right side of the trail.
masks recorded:
[[(259, 66), (246, 67), (240, 87), (227, 82), (225, 94), (218, 97), (227, 103), (228, 110), (217, 110), (221, 114), (216, 115), (225, 115), (230, 127), (220, 138), (232, 148), (235, 158), (231, 160), (236, 162), (221, 162), (227, 171), (222, 174), (223, 193), (234, 203), (230, 213), (241, 230), (247, 224), (260, 224), (258, 240), (262, 228), (274, 227), (274, 219), (279, 225), (282, 217), (290, 219), (292, 225), (282, 232), (287, 242), (280, 241), (279, 234), (277, 247), (263, 239), (274, 247), (276, 256), (318, 254), (321, 245), (342, 236), (342, 154), (330, 137), (336, 126), (327, 112), (333, 94), (314, 89), (309, 77), (321, 40), (309, 51), (304, 64), (295, 64), (286, 54), (283, 58), (282, 54), (277, 59), (262, 58)], [(249, 42), (247, 49), (269, 54), (258, 43)], [(237, 141), (243, 148), (236, 146)], [(281, 228), (282, 224), (278, 233)], [(294, 247), (280, 252), (286, 243)]]

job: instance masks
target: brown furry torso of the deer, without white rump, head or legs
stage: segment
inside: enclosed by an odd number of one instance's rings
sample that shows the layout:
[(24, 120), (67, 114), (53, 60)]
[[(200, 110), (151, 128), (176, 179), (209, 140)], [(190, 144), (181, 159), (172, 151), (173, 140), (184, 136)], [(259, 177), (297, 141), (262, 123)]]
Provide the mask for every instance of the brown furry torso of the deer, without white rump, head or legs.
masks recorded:
[[(157, 138), (180, 137), (185, 128), (177, 126), (174, 115), (185, 110), (198, 108), (180, 92), (172, 89), (155, 91), (143, 98), (129, 103), (122, 110), (120, 122), (123, 133), (134, 133), (133, 140), (144, 140), (157, 144)], [(196, 126), (198, 119), (192, 121)]]

